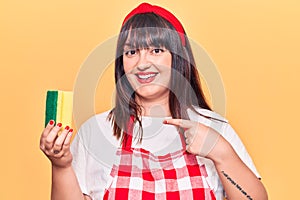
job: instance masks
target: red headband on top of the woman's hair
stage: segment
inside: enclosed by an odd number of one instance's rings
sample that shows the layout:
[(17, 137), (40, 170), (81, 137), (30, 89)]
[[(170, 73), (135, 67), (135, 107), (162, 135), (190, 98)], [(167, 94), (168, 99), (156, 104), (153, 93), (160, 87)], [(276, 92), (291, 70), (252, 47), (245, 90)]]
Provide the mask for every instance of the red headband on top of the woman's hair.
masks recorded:
[(122, 26), (128, 21), (129, 18), (136, 14), (142, 14), (142, 13), (155, 13), (161, 17), (163, 17), (165, 20), (170, 22), (176, 31), (179, 34), (179, 37), (181, 39), (182, 45), (185, 46), (185, 38), (184, 38), (184, 29), (180, 23), (180, 21), (169, 11), (166, 9), (159, 7), (159, 6), (154, 6), (148, 3), (142, 3), (135, 9), (133, 9), (124, 19)]

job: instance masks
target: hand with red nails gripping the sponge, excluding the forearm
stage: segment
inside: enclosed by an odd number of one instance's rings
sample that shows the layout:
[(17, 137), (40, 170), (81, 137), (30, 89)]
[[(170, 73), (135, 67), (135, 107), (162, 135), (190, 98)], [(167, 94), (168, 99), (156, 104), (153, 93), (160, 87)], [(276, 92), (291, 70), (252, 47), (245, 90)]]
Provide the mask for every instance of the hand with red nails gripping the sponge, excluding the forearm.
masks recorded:
[(73, 129), (66, 126), (61, 130), (61, 127), (61, 123), (54, 125), (53, 120), (49, 121), (41, 135), (40, 149), (49, 158), (53, 167), (67, 168), (71, 166), (73, 159), (70, 152)]

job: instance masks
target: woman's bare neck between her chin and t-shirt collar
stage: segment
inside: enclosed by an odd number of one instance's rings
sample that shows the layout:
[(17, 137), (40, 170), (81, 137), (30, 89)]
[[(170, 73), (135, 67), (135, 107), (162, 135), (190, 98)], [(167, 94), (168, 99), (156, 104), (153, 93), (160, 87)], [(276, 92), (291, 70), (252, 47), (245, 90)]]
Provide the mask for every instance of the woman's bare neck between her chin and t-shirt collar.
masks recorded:
[(170, 117), (169, 94), (160, 98), (147, 99), (136, 96), (136, 102), (142, 107), (142, 116)]

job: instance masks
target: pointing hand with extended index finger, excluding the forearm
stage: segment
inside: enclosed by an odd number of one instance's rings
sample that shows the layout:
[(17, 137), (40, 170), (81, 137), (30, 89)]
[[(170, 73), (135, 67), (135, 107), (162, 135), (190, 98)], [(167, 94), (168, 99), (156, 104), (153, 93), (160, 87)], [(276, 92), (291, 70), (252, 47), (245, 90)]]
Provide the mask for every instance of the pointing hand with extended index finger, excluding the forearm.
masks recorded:
[(202, 157), (207, 157), (222, 137), (213, 128), (191, 120), (167, 119), (164, 124), (183, 128), (185, 130), (186, 150)]

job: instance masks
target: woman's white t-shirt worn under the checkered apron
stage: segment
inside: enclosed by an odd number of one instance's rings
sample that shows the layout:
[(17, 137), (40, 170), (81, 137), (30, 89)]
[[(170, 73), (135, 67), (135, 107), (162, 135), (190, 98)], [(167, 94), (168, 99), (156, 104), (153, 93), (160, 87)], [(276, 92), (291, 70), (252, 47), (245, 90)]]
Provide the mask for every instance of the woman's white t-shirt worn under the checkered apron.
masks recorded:
[[(210, 120), (188, 110), (192, 121), (200, 122), (218, 131), (234, 148), (241, 160), (260, 178), (251, 157), (240, 138), (222, 116), (206, 109), (197, 109), (205, 116), (222, 120)], [(120, 142), (113, 136), (111, 123), (107, 120), (109, 111), (97, 114), (87, 120), (79, 129), (71, 144), (73, 154), (73, 169), (76, 173), (80, 188), (84, 194), (93, 200), (103, 199), (105, 188), (110, 178), (111, 167), (118, 163), (116, 150)], [(142, 117), (143, 140), (132, 147), (143, 148), (156, 155), (165, 155), (182, 148), (177, 128), (162, 123), (164, 118)], [(134, 136), (138, 125), (135, 124)], [(224, 191), (213, 162), (197, 156), (208, 174), (207, 182), (214, 190), (217, 200), (223, 199)]]

